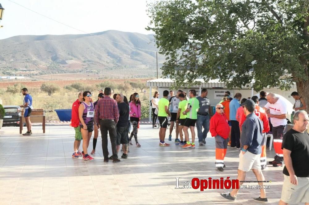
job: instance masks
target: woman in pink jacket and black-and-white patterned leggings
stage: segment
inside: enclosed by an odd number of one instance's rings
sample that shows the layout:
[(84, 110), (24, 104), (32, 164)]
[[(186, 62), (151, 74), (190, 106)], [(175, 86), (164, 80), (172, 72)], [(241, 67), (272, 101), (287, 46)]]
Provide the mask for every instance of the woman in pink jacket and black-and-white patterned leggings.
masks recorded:
[(131, 132), (129, 143), (130, 145), (133, 145), (131, 139), (134, 136), (136, 147), (141, 147), (141, 145), (137, 141), (137, 129), (140, 117), (141, 117), (141, 101), (139, 100), (138, 93), (133, 93), (132, 101), (130, 102), (130, 121), (133, 126), (133, 131)]

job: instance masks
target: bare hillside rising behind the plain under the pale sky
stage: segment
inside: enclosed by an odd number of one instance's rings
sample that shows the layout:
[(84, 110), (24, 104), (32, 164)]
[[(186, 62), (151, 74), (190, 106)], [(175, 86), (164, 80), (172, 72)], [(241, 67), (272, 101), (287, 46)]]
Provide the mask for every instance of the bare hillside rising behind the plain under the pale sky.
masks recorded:
[[(0, 75), (32, 78), (64, 73), (95, 74), (98, 78), (156, 76), (155, 52), (115, 42), (158, 50), (153, 35), (116, 30), (91, 35), (14, 36), (0, 40)], [(158, 55), (159, 67), (163, 61), (164, 57)]]

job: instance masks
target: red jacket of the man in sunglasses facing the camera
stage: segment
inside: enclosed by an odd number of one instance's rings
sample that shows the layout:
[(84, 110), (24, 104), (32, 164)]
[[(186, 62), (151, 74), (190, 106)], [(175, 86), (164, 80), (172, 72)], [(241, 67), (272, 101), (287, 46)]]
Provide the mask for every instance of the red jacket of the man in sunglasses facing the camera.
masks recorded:
[(212, 137), (217, 135), (221, 136), (224, 139), (229, 137), (230, 127), (226, 118), (226, 115), (223, 113), (222, 115), (217, 112), (210, 119), (210, 127), (209, 131)]

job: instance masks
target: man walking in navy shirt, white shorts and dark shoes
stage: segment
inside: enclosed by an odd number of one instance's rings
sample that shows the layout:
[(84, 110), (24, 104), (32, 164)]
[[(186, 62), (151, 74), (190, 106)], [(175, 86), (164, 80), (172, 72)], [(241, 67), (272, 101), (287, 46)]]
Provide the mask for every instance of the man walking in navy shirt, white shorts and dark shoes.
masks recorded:
[[(246, 178), (246, 172), (252, 170), (256, 176), (259, 185), (263, 187), (265, 181), (264, 175), (261, 171), (260, 155), (262, 153), (261, 143), (263, 140), (263, 123), (254, 113), (255, 102), (253, 100), (246, 100), (243, 103), (243, 113), (246, 115), (246, 120), (243, 122), (242, 132), (240, 137), (240, 146), (242, 151), (239, 154), (238, 176), (239, 185), (243, 184)], [(228, 200), (235, 201), (239, 189), (233, 189), (231, 193), (220, 193), (220, 195)], [(253, 200), (267, 203), (265, 189), (260, 189), (260, 196)]]

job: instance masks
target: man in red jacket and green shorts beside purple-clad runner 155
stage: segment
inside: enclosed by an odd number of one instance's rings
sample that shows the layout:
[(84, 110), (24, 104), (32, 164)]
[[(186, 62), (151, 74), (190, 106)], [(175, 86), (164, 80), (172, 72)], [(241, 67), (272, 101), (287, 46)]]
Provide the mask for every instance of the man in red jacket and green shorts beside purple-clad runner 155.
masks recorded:
[(80, 132), (78, 118), (78, 108), (81, 102), (83, 102), (83, 92), (78, 93), (78, 99), (72, 105), (71, 126), (74, 127), (75, 130), (74, 153), (72, 158), (82, 156), (82, 153), (78, 151), (80, 141), (82, 140), (82, 133)]

